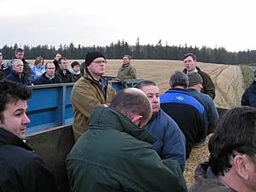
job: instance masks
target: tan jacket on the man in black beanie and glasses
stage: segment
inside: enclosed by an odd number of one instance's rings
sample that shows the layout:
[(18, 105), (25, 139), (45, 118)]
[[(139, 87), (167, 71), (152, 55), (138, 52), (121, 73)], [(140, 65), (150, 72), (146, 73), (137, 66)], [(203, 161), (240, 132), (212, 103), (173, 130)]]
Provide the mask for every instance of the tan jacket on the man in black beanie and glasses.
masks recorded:
[(80, 78), (73, 86), (71, 102), (73, 106), (73, 135), (75, 140), (87, 131), (90, 113), (99, 105), (112, 101), (116, 92), (108, 84), (106, 96), (104, 96), (101, 84), (92, 79), (84, 70), (84, 77)]

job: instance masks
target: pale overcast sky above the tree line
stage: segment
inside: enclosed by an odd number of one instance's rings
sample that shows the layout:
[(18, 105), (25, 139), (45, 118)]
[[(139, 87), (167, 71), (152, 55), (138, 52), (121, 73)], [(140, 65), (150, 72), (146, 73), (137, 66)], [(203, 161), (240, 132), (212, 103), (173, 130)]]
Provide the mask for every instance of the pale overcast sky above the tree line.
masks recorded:
[[(255, 2), (255, 1), (254, 1)], [(256, 49), (253, 0), (1, 0), (0, 48), (73, 43)]]

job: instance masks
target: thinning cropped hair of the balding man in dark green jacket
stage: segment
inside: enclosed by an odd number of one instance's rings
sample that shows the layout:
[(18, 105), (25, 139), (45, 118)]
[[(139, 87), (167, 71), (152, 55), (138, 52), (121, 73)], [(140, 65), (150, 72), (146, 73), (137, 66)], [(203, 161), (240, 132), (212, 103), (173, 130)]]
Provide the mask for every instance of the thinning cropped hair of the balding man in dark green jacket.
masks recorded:
[(151, 115), (151, 104), (148, 101), (148, 97), (144, 95), (142, 90), (138, 91), (136, 88), (120, 90), (113, 97), (109, 108), (113, 108), (127, 117), (129, 114), (135, 113), (142, 115), (143, 119), (149, 119)]

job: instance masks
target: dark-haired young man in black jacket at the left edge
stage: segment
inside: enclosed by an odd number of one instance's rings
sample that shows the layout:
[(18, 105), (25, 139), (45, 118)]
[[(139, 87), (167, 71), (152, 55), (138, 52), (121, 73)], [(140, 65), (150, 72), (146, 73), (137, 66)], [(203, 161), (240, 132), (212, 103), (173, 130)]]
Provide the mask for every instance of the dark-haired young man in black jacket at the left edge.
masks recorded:
[(0, 191), (58, 191), (53, 175), (23, 141), (31, 94), (24, 84), (0, 82)]

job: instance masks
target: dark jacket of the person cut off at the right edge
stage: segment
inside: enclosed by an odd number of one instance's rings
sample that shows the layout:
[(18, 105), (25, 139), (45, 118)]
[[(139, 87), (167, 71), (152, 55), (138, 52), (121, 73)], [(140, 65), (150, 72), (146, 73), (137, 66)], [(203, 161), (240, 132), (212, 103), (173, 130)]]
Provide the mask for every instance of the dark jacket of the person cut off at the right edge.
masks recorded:
[(253, 83), (244, 91), (241, 96), (241, 105), (256, 108), (256, 82)]

